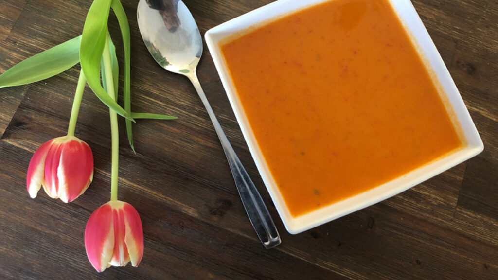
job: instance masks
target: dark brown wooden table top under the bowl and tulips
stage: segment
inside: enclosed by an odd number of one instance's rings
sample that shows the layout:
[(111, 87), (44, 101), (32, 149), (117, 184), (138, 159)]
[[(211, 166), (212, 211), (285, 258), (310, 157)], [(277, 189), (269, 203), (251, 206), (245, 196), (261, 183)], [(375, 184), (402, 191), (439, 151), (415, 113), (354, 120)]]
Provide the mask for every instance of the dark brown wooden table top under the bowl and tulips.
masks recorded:
[[(272, 0), (184, 1), (204, 33)], [(76, 66), (42, 82), (0, 89), (0, 279), (498, 279), (496, 0), (413, 0), (481, 133), (484, 152), (299, 235), (285, 231), (205, 48), (200, 81), (280, 231), (282, 244), (273, 250), (262, 247), (249, 223), (194, 88), (152, 60), (138, 32), (138, 1), (122, 2), (132, 35), (132, 108), (178, 117), (138, 121), (136, 154), (120, 120), (119, 197), (140, 213), (142, 263), (98, 274), (85, 253), (85, 225), (109, 200), (111, 169), (108, 110), (88, 87), (76, 136), (94, 152), (92, 185), (70, 204), (42, 190), (32, 200), (26, 191), (32, 153), (66, 133)], [(1, 0), (0, 73), (80, 34), (90, 4)], [(119, 38), (114, 16), (110, 26)]]

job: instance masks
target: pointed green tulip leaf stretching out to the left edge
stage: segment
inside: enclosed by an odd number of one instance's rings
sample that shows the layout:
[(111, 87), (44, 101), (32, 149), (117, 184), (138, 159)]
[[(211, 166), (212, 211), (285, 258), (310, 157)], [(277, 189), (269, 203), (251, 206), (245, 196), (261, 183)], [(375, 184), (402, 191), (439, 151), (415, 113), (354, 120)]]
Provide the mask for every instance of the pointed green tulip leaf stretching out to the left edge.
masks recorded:
[(81, 36), (35, 54), (0, 75), (0, 88), (38, 82), (73, 67), (80, 61)]

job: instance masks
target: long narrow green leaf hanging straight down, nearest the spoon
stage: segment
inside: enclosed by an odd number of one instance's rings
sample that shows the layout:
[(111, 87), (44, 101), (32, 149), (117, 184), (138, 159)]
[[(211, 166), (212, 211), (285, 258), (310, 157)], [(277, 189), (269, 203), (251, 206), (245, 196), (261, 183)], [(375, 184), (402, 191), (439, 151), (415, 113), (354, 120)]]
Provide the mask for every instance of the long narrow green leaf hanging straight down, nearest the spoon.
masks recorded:
[[(126, 13), (124, 12), (123, 5), (119, 0), (113, 0), (111, 7), (118, 18), (118, 23), (120, 24), (121, 35), (123, 36), (123, 46), (124, 46), (124, 87), (123, 87), (123, 103), (124, 111), (126, 113), (131, 113), (131, 98), (130, 98), (130, 35), (129, 35), (129, 24)], [(131, 121), (125, 120), (126, 123), (126, 134), (128, 136), (128, 142), (135, 152), (133, 147), (133, 133), (131, 131)]]

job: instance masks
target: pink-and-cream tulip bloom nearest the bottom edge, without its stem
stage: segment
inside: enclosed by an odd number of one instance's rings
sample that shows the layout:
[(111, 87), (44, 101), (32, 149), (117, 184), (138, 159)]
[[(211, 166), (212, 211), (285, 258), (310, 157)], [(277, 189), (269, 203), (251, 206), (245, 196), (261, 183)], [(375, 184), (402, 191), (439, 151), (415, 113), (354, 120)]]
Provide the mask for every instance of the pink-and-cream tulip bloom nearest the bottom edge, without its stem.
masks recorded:
[(143, 256), (142, 222), (130, 204), (111, 200), (88, 219), (85, 229), (88, 260), (97, 272), (124, 267), (130, 261), (138, 266)]

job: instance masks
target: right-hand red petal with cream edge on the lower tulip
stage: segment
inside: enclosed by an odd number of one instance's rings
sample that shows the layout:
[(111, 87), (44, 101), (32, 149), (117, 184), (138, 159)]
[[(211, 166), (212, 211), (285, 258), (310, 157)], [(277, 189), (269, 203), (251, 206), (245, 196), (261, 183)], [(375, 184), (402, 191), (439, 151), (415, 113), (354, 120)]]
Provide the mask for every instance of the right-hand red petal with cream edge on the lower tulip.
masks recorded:
[(126, 234), (124, 242), (128, 248), (128, 254), (133, 267), (138, 266), (143, 257), (143, 229), (140, 216), (131, 204), (125, 203), (123, 206), (124, 223), (126, 224)]

